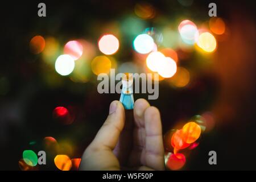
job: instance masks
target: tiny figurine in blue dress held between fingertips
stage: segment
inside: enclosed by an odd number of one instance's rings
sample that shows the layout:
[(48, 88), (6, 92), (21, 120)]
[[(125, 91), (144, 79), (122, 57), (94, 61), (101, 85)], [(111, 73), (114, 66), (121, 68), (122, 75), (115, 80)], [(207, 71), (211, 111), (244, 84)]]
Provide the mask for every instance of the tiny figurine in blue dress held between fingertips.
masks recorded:
[(125, 73), (122, 78), (122, 92), (120, 97), (120, 102), (122, 102), (125, 109), (133, 109), (134, 99), (133, 99), (133, 75)]

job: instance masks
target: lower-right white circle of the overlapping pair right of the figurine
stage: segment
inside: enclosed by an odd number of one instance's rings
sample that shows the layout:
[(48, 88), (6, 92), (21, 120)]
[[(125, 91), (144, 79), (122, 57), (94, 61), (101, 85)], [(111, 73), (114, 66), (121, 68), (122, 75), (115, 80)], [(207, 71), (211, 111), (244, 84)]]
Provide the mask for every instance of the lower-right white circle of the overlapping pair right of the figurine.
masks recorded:
[(171, 57), (166, 57), (166, 59), (160, 62), (160, 66), (158, 68), (158, 73), (160, 76), (164, 78), (170, 78), (174, 76), (177, 71), (176, 62), (171, 59)]

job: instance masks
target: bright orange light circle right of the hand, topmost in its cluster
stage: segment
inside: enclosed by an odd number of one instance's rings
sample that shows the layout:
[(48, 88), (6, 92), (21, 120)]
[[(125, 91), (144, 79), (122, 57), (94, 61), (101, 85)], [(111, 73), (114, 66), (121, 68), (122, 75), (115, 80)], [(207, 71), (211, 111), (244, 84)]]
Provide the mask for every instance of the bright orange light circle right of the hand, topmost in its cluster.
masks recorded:
[(195, 122), (188, 122), (183, 126), (181, 132), (185, 143), (193, 143), (200, 137), (201, 127)]

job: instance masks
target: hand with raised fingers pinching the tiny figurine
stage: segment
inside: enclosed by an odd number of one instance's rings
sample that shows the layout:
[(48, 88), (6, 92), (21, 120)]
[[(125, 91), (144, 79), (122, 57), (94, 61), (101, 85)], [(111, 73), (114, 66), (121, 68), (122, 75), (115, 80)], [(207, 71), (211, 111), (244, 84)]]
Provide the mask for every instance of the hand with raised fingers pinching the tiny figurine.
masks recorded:
[(159, 110), (144, 99), (125, 111), (119, 101), (82, 155), (80, 170), (164, 170)]

